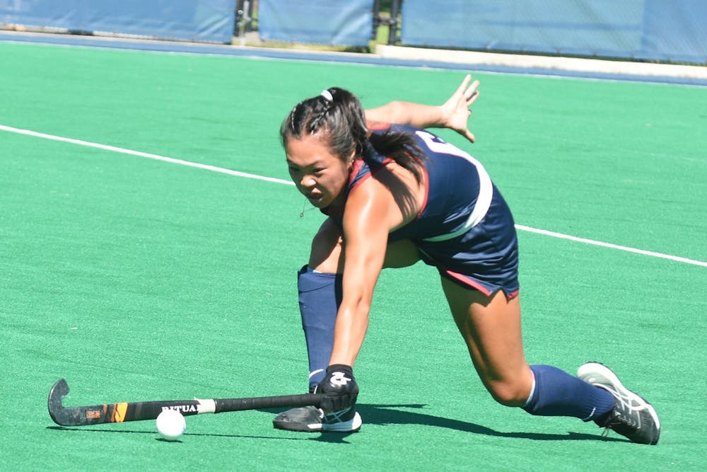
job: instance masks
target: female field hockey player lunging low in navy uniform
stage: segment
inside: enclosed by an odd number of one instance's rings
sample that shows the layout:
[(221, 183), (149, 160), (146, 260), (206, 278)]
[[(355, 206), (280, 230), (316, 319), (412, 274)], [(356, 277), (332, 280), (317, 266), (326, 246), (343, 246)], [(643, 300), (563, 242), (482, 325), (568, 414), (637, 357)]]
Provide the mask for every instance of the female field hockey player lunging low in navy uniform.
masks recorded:
[[(392, 102), (364, 112), (341, 88), (298, 103), (281, 126), (290, 176), (328, 217), (298, 272), (310, 388), (322, 409), (294, 408), (275, 427), (354, 432), (361, 427), (353, 366), (383, 267), (437, 267), (452, 317), (491, 396), (532, 415), (594, 421), (656, 444), (653, 407), (607, 367), (572, 376), (528, 365), (522, 346), (513, 217), (484, 167), (424, 130), (467, 128), (478, 81), (467, 76), (439, 107)], [(395, 124), (388, 124), (395, 123)]]

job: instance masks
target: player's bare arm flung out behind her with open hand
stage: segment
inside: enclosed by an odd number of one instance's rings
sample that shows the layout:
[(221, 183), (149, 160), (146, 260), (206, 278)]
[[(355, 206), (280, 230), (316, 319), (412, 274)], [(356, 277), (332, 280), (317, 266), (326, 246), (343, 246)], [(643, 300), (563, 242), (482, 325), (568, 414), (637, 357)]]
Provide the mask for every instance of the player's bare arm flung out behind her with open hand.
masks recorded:
[(472, 82), (472, 76), (467, 74), (455, 93), (442, 105), (422, 105), (394, 100), (366, 110), (366, 120), (418, 128), (450, 128), (473, 143), (476, 138), (469, 131), (469, 116), (472, 114), (469, 108), (479, 97), (478, 87), (479, 81)]

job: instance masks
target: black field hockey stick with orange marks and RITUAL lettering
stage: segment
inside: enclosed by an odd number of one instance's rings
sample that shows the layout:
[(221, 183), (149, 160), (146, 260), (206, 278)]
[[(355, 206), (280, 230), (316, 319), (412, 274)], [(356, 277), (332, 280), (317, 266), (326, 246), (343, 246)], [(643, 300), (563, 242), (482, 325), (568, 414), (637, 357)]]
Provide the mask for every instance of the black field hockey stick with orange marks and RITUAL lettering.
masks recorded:
[(57, 381), (49, 391), (49, 415), (57, 425), (85, 426), (101, 423), (154, 420), (163, 410), (177, 410), (184, 416), (201, 413), (257, 410), (259, 408), (285, 408), (320, 405), (320, 393), (302, 395), (260, 396), (253, 398), (214, 398), (194, 400), (139, 401), (105, 403), (91, 406), (64, 406), (62, 401), (69, 393), (64, 379)]

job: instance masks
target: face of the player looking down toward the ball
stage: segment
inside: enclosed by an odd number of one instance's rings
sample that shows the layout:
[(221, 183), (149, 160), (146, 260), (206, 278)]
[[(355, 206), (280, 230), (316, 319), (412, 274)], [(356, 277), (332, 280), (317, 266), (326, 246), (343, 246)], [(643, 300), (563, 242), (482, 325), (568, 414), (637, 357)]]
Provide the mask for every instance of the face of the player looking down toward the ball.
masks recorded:
[[(290, 178), (312, 205), (325, 208), (344, 195), (351, 159), (332, 154), (315, 134), (290, 138), (285, 146)], [(353, 158), (353, 155), (351, 156)]]

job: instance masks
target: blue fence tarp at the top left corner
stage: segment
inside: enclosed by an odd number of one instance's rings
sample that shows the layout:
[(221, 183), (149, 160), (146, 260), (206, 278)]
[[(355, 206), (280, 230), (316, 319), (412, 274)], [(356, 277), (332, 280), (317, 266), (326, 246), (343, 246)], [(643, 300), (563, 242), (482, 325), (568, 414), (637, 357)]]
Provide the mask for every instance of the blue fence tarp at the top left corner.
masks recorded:
[(0, 0), (0, 24), (231, 42), (235, 0)]

